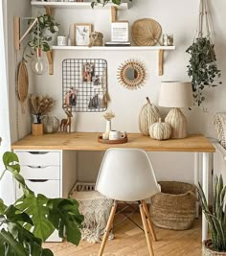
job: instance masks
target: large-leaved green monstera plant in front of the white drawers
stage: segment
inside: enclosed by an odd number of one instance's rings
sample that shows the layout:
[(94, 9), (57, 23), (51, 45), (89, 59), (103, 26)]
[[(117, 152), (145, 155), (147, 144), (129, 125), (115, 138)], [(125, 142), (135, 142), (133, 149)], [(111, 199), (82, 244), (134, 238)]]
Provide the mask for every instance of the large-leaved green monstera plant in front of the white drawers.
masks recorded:
[(43, 248), (42, 242), (58, 230), (60, 238), (72, 244), (79, 244), (83, 216), (79, 214), (79, 203), (69, 198), (46, 198), (34, 195), (20, 175), (18, 157), (5, 152), (3, 162), (20, 185), (23, 196), (7, 206), (0, 199), (0, 254), (1, 256), (54, 256), (50, 249)]

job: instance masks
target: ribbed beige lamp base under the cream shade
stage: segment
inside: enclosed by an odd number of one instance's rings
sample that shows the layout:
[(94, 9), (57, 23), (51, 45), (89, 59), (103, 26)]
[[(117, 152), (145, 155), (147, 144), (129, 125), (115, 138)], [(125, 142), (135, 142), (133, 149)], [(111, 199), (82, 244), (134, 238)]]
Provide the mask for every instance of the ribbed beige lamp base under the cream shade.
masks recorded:
[(179, 108), (171, 108), (165, 122), (169, 123), (172, 128), (170, 138), (183, 139), (187, 137), (187, 120)]

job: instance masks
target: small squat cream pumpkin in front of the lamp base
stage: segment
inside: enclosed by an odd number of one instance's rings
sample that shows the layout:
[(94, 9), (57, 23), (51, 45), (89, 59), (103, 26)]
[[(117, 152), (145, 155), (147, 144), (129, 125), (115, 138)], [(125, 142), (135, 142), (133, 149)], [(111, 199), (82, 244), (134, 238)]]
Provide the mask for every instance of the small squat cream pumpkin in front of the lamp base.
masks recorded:
[(169, 123), (162, 123), (161, 118), (159, 122), (150, 126), (149, 134), (155, 140), (167, 140), (171, 135), (171, 127)]

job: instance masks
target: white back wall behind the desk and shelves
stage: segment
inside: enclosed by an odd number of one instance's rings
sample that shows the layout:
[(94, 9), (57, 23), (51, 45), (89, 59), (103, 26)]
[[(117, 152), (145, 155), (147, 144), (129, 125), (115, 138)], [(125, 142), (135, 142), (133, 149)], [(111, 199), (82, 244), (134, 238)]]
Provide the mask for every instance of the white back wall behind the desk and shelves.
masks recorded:
[[(209, 1), (210, 2), (210, 1)], [(132, 8), (128, 11), (120, 12), (120, 19), (127, 19), (130, 25), (139, 18), (150, 17), (156, 19), (162, 26), (164, 33), (174, 35), (176, 51), (165, 54), (164, 76), (158, 77), (157, 73), (157, 52), (55, 52), (55, 75), (35, 77), (35, 91), (42, 94), (52, 95), (56, 99), (56, 107), (53, 111), (58, 118), (62, 118), (64, 113), (61, 109), (61, 63), (64, 58), (105, 58), (108, 62), (108, 90), (111, 103), (108, 109), (112, 109), (116, 118), (113, 120), (113, 128), (126, 130), (128, 132), (138, 132), (138, 114), (145, 98), (157, 104), (160, 81), (188, 80), (187, 65), (189, 55), (186, 49), (192, 43), (197, 18), (198, 4), (196, 0), (134, 0)], [(226, 1), (217, 0), (215, 5), (211, 3), (211, 12), (215, 22), (215, 51), (217, 62), (222, 69), (223, 85), (215, 89), (207, 89), (207, 101), (203, 111), (202, 107), (192, 107), (192, 111), (185, 109), (189, 121), (190, 133), (203, 133), (206, 136), (215, 137), (213, 127), (213, 116), (215, 112), (225, 111), (224, 83), (226, 58), (225, 44), (225, 10)], [(40, 12), (33, 9), (34, 14)], [(110, 13), (109, 11), (98, 10), (56, 10), (56, 20), (61, 24), (60, 35), (67, 35), (69, 24), (92, 23), (94, 30), (104, 34), (104, 39), (110, 39)], [(119, 65), (128, 58), (139, 59), (147, 67), (147, 82), (141, 89), (129, 91), (117, 81), (117, 69)], [(163, 116), (168, 109), (161, 109)], [(74, 113), (75, 131), (103, 131), (105, 126), (102, 113)], [(148, 138), (147, 138), (148, 139)], [(193, 155), (185, 153), (151, 153), (154, 168), (159, 179), (176, 179), (192, 182)], [(79, 167), (82, 172), (79, 174), (80, 180), (95, 179), (101, 155), (82, 152), (79, 154)], [(89, 164), (83, 164), (88, 162)], [(175, 165), (175, 162), (177, 163)], [(93, 167), (93, 163), (95, 167)], [(92, 175), (91, 175), (92, 174)]]

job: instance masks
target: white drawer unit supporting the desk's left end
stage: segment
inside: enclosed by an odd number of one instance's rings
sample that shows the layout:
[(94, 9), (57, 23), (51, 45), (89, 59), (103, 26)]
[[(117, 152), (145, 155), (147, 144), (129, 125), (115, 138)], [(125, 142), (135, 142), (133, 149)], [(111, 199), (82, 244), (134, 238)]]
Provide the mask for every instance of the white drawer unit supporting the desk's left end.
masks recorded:
[[(20, 174), (23, 175), (28, 187), (34, 194), (42, 194), (47, 198), (68, 198), (77, 180), (76, 151), (14, 151), (20, 164)], [(22, 194), (18, 184), (15, 185), (15, 198)], [(47, 242), (60, 242), (57, 232), (48, 238)]]

